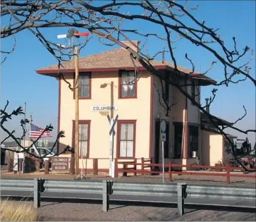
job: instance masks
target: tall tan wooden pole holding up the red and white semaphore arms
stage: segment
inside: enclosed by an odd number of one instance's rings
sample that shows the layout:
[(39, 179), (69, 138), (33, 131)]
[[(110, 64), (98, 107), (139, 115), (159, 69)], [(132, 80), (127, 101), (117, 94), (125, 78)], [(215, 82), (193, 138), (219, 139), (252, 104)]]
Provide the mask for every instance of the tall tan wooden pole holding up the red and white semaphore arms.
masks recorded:
[(75, 47), (75, 175), (79, 173), (79, 133), (78, 133), (78, 121), (79, 121), (79, 63), (78, 63), (78, 47)]

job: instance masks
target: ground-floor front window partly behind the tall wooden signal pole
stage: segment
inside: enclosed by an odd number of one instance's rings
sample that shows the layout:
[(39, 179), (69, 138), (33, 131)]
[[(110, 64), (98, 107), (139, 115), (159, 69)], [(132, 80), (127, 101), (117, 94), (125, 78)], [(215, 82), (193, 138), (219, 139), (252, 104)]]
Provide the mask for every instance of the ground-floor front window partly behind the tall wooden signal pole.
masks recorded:
[[(78, 137), (79, 157), (89, 158), (90, 121), (79, 121)], [(73, 121), (73, 147), (75, 147), (75, 121)]]

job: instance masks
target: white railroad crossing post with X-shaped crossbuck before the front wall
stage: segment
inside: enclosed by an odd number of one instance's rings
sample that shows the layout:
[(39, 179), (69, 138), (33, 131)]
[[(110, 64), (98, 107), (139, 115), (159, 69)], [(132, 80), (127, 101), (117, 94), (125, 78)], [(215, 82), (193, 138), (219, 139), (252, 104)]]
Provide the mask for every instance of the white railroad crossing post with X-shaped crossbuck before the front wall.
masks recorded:
[(109, 176), (114, 178), (114, 161), (113, 161), (113, 150), (114, 150), (114, 135), (115, 132), (115, 125), (118, 119), (118, 115), (116, 115), (116, 118), (110, 118), (109, 114), (106, 116), (108, 118), (109, 124), (110, 124), (110, 147), (109, 147)]

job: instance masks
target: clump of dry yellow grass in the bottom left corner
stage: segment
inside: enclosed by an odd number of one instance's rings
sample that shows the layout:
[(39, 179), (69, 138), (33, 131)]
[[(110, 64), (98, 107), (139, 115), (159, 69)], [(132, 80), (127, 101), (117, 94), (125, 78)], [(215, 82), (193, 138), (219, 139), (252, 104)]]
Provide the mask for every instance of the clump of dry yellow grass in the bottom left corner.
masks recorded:
[(1, 199), (0, 221), (37, 221), (37, 210), (31, 202)]

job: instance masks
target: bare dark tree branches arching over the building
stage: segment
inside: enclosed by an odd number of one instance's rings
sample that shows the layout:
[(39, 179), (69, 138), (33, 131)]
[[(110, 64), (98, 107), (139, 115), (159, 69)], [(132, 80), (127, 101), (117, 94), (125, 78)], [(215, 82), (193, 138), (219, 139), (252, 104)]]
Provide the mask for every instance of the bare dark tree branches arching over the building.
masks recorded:
[[(250, 61), (252, 61), (253, 58), (253, 51), (250, 50), (248, 46), (239, 50), (236, 43), (236, 37), (231, 39), (233, 42), (233, 49), (229, 49), (226, 46), (224, 39), (221, 39), (221, 36), (218, 34), (218, 29), (207, 26), (205, 21), (201, 22), (193, 16), (193, 11), (195, 11), (197, 7), (198, 6), (190, 6), (188, 1), (176, 2), (173, 0), (112, 0), (97, 1), (97, 4), (92, 0), (1, 0), (1, 17), (4, 19), (4, 23), (2, 23), (1, 26), (1, 38), (14, 37), (18, 32), (29, 30), (32, 35), (35, 35), (44, 47), (46, 47), (46, 49), (57, 59), (59, 68), (61, 67), (61, 62), (67, 60), (68, 53), (63, 49), (60, 49), (58, 44), (47, 40), (46, 37), (42, 35), (41, 30), (46, 28), (49, 29), (50, 27), (80, 28), (91, 32), (102, 44), (108, 46), (118, 44), (127, 49), (132, 61), (139, 61), (142, 66), (152, 73), (152, 75), (159, 78), (162, 88), (164, 85), (163, 82), (168, 81), (169, 85), (178, 88), (178, 90), (180, 90), (193, 105), (197, 106), (200, 111), (205, 113), (212, 122), (212, 125), (214, 125), (214, 127), (217, 128), (217, 130), (219, 130), (231, 144), (231, 152), (236, 161), (241, 164), (235, 152), (236, 144), (230, 140), (225, 130), (226, 128), (232, 128), (245, 135), (248, 134), (248, 132), (256, 132), (255, 129), (242, 130), (235, 126), (238, 121), (241, 121), (245, 117), (247, 113), (245, 107), (245, 115), (238, 118), (238, 120), (231, 123), (231, 125), (227, 126), (224, 123), (217, 125), (217, 123), (214, 122), (216, 117), (207, 112), (205, 106), (202, 106), (202, 104), (195, 101), (195, 99), (188, 93), (187, 88), (189, 85), (186, 80), (188, 80), (189, 75), (184, 75), (178, 68), (178, 61), (174, 49), (176, 48), (176, 42), (186, 41), (197, 47), (201, 47), (205, 50), (205, 53), (211, 54), (214, 59), (212, 63), (210, 63), (211, 65), (209, 68), (205, 70), (205, 72), (202, 72), (202, 74), (207, 76), (215, 63), (221, 64), (224, 70), (224, 75), (222, 80), (217, 82), (216, 87), (238, 84), (241, 81), (249, 81), (252, 85), (256, 86), (256, 80), (253, 75), (250, 74)], [(137, 20), (140, 20), (140, 22), (145, 25), (161, 27), (164, 30), (164, 34), (154, 32), (144, 33), (140, 30), (131, 30), (126, 27), (127, 23), (134, 24)], [(130, 35), (137, 35), (144, 39), (145, 42), (142, 44), (142, 47), (139, 47), (138, 51), (133, 50), (128, 44), (121, 42), (121, 39), (130, 41)], [(154, 55), (150, 56), (145, 47), (148, 38), (154, 38), (161, 41), (164, 44), (164, 49), (159, 50)], [(80, 49), (81, 47), (83, 46), (80, 45)], [(13, 45), (13, 50), (14, 48), (15, 44)], [(6, 52), (3, 51), (2, 53)], [(150, 63), (150, 61), (157, 55), (165, 53), (169, 53), (171, 56), (173, 73), (175, 74), (173, 76), (176, 76), (177, 78), (169, 78), (169, 80), (166, 80), (165, 75), (159, 72), (159, 70), (156, 70)], [(197, 75), (198, 73), (195, 72), (197, 66), (190, 57), (191, 55), (185, 51), (184, 59), (190, 63), (192, 70), (189, 74)], [(247, 59), (247, 61), (243, 62), (244, 59)], [(60, 69), (59, 75), (65, 80)], [(181, 82), (177, 80), (179, 76), (185, 76), (185, 84), (182, 85)], [(138, 77), (135, 75), (135, 78)], [(71, 84), (67, 80), (65, 81), (68, 83), (70, 89), (73, 90)], [(213, 97), (210, 104), (214, 102), (216, 93), (217, 88), (212, 90)], [(161, 106), (164, 106), (166, 116), (168, 116), (173, 104), (169, 104), (169, 101), (166, 101), (162, 92), (159, 92), (159, 96), (161, 96), (161, 101), (163, 101)], [(17, 110), (16, 113), (18, 112), (19, 111)], [(6, 115), (5, 109), (4, 111), (1, 111), (1, 114), (2, 113), (4, 113), (3, 115)], [(15, 115), (15, 113), (13, 113), (13, 115)], [(6, 116), (5, 119), (7, 118), (8, 117)], [(219, 121), (221, 120), (219, 119)], [(3, 128), (2, 124), (1, 128)], [(49, 130), (49, 127), (47, 129)], [(5, 132), (7, 132), (8, 136), (12, 137), (14, 140), (11, 132), (8, 130)], [(63, 136), (62, 133), (61, 135), (58, 135), (57, 139), (61, 136)], [(243, 168), (245, 167), (243, 166)]]

